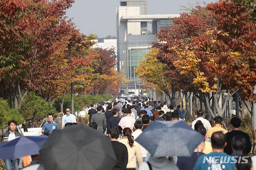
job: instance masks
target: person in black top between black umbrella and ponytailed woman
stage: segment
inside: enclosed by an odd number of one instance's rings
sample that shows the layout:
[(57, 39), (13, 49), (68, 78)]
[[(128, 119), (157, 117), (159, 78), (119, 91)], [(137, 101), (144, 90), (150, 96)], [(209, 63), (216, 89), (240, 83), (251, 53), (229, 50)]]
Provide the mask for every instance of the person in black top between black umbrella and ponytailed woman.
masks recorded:
[(111, 128), (109, 138), (116, 154), (116, 165), (112, 170), (126, 170), (126, 166), (128, 163), (128, 150), (127, 147), (118, 142), (117, 138), (119, 137), (119, 129), (118, 128)]

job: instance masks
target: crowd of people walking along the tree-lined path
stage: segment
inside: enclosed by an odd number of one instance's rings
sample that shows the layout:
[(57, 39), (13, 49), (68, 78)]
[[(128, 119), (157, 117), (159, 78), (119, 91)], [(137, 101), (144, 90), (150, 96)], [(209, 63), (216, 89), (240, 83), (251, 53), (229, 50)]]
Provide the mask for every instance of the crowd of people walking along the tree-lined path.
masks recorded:
[[(65, 128), (77, 124), (69, 108), (66, 113), (61, 126)], [(205, 140), (195, 148), (193, 154), (156, 158), (135, 139), (153, 121), (185, 121), (180, 105), (174, 107), (148, 98), (126, 99), (124, 102), (106, 102), (97, 107), (91, 104), (88, 114), (89, 127), (110, 138), (117, 158), (113, 170), (251, 170), (252, 164), (256, 163), (256, 157), (248, 156), (252, 147), (250, 137), (239, 129), (241, 120), (237, 117), (231, 119), (232, 130), (228, 132), (223, 128), (221, 116), (215, 116), (209, 122), (203, 111), (197, 111), (197, 118), (191, 128), (202, 134)], [(48, 123), (42, 128), (44, 135), (50, 135), (54, 129), (59, 128), (53, 122), (53, 114), (47, 114), (47, 118)], [(3, 135), (2, 142), (21, 136), (16, 131), (15, 120), (9, 121), (8, 125), (9, 130)], [(175, 144), (166, 144), (166, 147), (175, 147)], [(4, 162), (6, 170), (11, 170), (11, 165), (14, 170), (18, 170), (19, 159)]]

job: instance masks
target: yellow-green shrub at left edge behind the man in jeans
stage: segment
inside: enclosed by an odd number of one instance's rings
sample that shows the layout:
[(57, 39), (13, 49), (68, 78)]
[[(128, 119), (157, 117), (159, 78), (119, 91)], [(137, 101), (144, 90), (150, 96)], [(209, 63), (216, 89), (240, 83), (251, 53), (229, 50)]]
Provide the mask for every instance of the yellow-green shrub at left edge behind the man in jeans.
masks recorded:
[(24, 121), (24, 118), (17, 109), (11, 109), (7, 101), (0, 100), (0, 128), (11, 119), (16, 120), (18, 124)]

